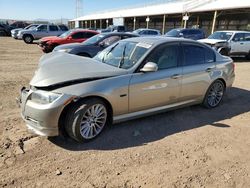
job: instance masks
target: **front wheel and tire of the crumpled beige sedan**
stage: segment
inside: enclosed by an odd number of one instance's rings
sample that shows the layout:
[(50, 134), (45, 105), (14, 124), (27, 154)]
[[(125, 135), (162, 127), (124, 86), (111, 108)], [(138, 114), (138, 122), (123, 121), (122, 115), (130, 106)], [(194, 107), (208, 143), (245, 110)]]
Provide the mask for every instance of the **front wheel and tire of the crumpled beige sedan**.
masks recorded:
[(68, 135), (78, 142), (97, 137), (108, 122), (108, 109), (99, 99), (82, 100), (74, 104), (65, 119)]

